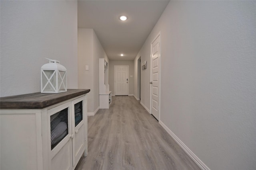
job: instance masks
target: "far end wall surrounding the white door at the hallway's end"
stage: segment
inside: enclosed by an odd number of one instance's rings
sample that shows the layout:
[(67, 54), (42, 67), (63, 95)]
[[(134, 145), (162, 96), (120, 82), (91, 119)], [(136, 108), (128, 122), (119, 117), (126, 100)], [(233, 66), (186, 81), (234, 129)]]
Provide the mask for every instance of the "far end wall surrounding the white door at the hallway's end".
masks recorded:
[[(122, 66), (126, 65), (129, 66), (129, 77), (128, 77), (128, 82), (129, 82), (129, 95), (133, 95), (134, 92), (134, 62), (133, 61), (125, 61), (125, 60), (110, 60), (109, 61), (109, 90), (112, 91), (112, 95), (115, 95), (115, 90), (114, 90), (114, 66)], [(132, 76), (132, 77), (130, 77)]]

